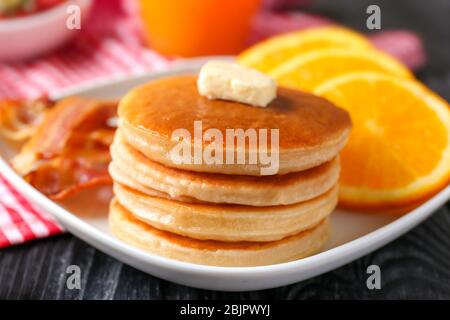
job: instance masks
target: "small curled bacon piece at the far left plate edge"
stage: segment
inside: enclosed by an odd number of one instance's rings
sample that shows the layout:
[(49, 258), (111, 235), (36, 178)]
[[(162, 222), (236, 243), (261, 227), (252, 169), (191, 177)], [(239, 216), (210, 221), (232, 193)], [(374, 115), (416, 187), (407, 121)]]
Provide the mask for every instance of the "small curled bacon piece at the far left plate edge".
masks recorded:
[(0, 133), (13, 141), (29, 139), (54, 104), (47, 98), (0, 100)]

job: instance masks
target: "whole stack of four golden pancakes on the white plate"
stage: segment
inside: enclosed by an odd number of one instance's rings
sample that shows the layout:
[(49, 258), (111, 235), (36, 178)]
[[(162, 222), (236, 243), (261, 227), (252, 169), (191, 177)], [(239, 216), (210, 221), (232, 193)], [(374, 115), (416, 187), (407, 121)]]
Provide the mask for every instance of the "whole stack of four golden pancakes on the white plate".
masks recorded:
[[(203, 130), (279, 129), (277, 174), (262, 176), (259, 162), (173, 161), (172, 133), (193, 131), (198, 120)], [(136, 88), (120, 103), (111, 146), (112, 232), (145, 250), (199, 264), (255, 266), (310, 255), (328, 236), (338, 153), (350, 127), (345, 111), (286, 88), (278, 88), (266, 108), (202, 97), (190, 75)]]

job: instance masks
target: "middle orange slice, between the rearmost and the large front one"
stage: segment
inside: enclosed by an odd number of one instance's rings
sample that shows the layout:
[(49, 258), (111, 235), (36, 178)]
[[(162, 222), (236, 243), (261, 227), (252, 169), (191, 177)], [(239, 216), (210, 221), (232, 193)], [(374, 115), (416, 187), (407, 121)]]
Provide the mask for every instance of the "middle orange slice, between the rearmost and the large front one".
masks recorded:
[(269, 72), (278, 84), (311, 91), (320, 83), (350, 72), (380, 72), (413, 78), (389, 55), (367, 49), (320, 49), (294, 57)]

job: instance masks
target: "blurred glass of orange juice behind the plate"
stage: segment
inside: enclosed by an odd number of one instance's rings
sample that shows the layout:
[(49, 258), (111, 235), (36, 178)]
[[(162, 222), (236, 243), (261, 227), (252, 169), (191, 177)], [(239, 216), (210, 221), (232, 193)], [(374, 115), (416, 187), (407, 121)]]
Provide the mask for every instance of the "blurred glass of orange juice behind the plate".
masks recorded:
[(183, 57), (235, 54), (261, 0), (140, 0), (148, 44)]

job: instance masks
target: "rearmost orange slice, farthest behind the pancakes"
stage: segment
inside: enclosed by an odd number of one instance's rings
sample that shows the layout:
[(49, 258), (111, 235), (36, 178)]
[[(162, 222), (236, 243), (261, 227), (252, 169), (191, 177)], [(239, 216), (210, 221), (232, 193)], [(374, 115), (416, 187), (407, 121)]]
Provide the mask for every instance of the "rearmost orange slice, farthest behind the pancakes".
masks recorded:
[(336, 47), (372, 48), (362, 34), (342, 27), (321, 27), (269, 38), (242, 52), (237, 62), (267, 72), (301, 53)]

